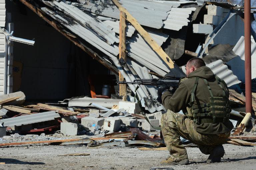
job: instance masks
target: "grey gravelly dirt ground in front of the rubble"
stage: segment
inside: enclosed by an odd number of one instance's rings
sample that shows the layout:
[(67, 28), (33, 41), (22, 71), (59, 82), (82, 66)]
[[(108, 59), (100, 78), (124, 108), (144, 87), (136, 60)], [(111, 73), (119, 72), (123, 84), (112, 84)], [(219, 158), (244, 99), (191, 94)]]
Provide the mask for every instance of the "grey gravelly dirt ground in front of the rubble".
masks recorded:
[[(207, 155), (198, 148), (187, 148), (189, 165), (160, 166), (158, 162), (168, 157), (168, 151), (141, 151), (132, 147), (105, 147), (88, 149), (76, 146), (19, 146), (1, 147), (0, 170), (78, 170), (78, 169), (150, 169), (172, 167), (174, 170), (190, 169), (256, 169), (256, 147), (224, 145), (226, 156), (220, 163), (206, 164)], [(71, 153), (90, 153), (89, 156), (60, 156)]]

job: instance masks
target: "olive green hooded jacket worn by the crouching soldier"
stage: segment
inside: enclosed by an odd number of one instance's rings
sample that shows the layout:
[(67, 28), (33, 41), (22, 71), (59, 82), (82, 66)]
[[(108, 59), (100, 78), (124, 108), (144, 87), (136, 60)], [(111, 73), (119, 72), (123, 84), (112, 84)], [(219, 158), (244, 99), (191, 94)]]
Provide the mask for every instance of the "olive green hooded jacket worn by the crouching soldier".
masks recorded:
[[(215, 79), (214, 73), (209, 67), (202, 66), (191, 72), (188, 75), (188, 79), (181, 81), (178, 89), (173, 95), (168, 91), (162, 95), (162, 102), (166, 109), (173, 112), (179, 112), (180, 110), (182, 110), (183, 113), (187, 112), (186, 107), (189, 107), (191, 91), (195, 84), (195, 77), (206, 79), (212, 89), (213, 95), (222, 96), (222, 90)], [(224, 90), (228, 97), (229, 93), (227, 85), (225, 83), (221, 83), (221, 85), (222, 87), (225, 87)], [(197, 88), (195, 90), (195, 101), (192, 103), (192, 106), (197, 105), (197, 102), (199, 102), (199, 104), (208, 103), (209, 97), (210, 93), (206, 84), (204, 83), (203, 79), (199, 79)], [(195, 128), (197, 132), (203, 134), (221, 134), (231, 131), (233, 124), (230, 121), (225, 123), (195, 123)]]

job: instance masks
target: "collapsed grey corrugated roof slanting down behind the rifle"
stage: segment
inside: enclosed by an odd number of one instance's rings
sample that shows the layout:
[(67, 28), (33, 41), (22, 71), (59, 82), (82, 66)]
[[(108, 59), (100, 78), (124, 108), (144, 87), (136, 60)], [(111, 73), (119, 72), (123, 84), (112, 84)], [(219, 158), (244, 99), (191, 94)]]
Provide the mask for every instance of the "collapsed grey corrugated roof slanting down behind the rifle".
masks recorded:
[[(111, 0), (20, 1), (104, 66), (116, 73), (120, 71), (126, 81), (157, 78), (156, 75), (162, 77), (170, 71), (175, 77), (185, 75), (176, 64), (170, 69), (129, 23), (126, 27), (128, 57), (126, 62), (118, 60), (120, 11)], [(184, 54), (186, 26), (196, 19), (202, 9), (202, 6), (198, 6), (200, 3), (185, 0), (119, 0), (119, 3), (159, 46), (166, 46), (164, 50), (171, 59), (179, 59)], [(221, 5), (234, 7), (229, 3)], [(182, 37), (177, 36), (180, 33)], [(163, 45), (167, 41), (170, 45)], [(130, 84), (129, 87), (135, 93), (135, 85)], [(142, 86), (137, 94), (144, 99), (146, 110), (164, 110), (154, 100), (157, 96), (155, 87)]]

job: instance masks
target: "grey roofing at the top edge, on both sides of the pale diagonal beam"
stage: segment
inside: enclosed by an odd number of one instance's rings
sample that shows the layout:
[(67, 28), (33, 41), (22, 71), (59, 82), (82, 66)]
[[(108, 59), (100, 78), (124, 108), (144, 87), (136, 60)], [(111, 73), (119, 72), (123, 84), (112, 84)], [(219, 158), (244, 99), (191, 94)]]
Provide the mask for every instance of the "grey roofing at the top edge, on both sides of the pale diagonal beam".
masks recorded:
[[(82, 10), (115, 19), (120, 18), (118, 8), (110, 0), (90, 0), (83, 3), (82, 6), (77, 5)], [(148, 0), (120, 0), (119, 3), (136, 18), (139, 24), (156, 29), (162, 28), (163, 20), (166, 20), (167, 12), (172, 8), (171, 5)]]

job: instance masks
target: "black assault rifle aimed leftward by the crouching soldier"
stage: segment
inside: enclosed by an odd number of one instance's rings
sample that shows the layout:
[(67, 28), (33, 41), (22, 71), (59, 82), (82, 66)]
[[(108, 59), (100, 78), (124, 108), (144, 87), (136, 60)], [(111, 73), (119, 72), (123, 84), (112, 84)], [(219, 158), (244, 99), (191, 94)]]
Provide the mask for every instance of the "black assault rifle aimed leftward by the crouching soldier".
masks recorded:
[(158, 86), (161, 84), (167, 84), (169, 86), (177, 87), (179, 85), (179, 80), (160, 80), (157, 78), (154, 79), (137, 79), (133, 82), (118, 81), (117, 84), (137, 84), (137, 85), (149, 85), (149, 86)]

